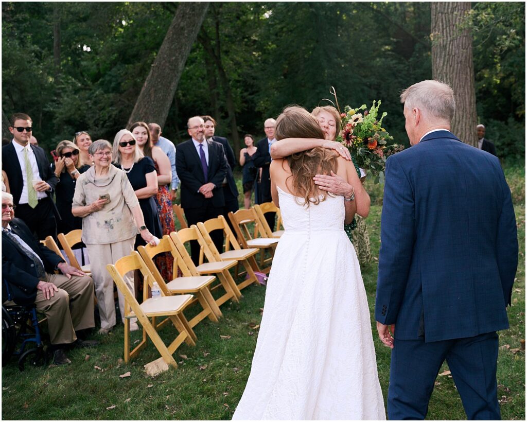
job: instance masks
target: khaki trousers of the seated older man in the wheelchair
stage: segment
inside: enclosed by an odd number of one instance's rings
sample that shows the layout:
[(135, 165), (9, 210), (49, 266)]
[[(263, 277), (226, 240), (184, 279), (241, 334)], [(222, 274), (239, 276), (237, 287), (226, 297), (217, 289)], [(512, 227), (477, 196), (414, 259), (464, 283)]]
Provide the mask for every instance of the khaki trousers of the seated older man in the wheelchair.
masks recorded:
[(55, 296), (46, 299), (38, 290), (35, 299), (36, 309), (44, 312), (50, 331), (52, 345), (73, 343), (75, 331), (95, 327), (93, 319), (93, 281), (91, 277), (62, 274), (46, 274), (46, 280), (55, 284)]

